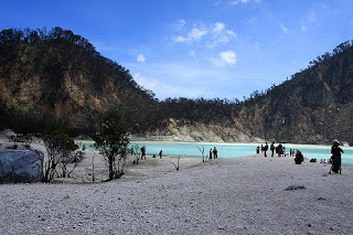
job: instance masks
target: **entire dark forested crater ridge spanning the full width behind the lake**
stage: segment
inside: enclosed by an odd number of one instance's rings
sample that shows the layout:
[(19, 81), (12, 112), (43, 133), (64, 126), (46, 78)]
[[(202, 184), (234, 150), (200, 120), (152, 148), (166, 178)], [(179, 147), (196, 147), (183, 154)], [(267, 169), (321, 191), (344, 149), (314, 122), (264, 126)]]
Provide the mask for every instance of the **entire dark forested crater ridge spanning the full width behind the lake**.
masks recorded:
[(132, 135), (204, 141), (351, 142), (352, 41), (309, 63), (280, 85), (244, 100), (167, 98), (69, 30), (0, 32), (0, 128), (42, 132), (65, 126), (90, 135), (100, 113), (122, 114)]

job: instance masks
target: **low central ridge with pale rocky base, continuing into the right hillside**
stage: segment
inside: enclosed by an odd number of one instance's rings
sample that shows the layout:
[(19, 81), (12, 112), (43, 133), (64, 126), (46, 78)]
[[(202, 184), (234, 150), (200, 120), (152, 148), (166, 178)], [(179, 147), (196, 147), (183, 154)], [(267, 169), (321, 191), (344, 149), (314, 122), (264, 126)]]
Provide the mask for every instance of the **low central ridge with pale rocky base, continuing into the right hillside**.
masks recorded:
[(290, 79), (242, 103), (167, 99), (161, 105), (173, 119), (164, 119), (163, 131), (154, 133), (185, 140), (330, 143), (338, 138), (353, 143), (352, 44), (340, 44)]

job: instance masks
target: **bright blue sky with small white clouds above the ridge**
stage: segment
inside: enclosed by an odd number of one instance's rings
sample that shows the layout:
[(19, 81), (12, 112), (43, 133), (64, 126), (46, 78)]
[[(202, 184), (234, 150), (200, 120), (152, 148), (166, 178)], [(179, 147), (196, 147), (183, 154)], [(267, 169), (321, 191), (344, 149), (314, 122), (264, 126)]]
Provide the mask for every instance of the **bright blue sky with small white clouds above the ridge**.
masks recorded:
[(353, 39), (352, 0), (1, 0), (0, 6), (1, 30), (72, 30), (160, 99), (243, 99)]

